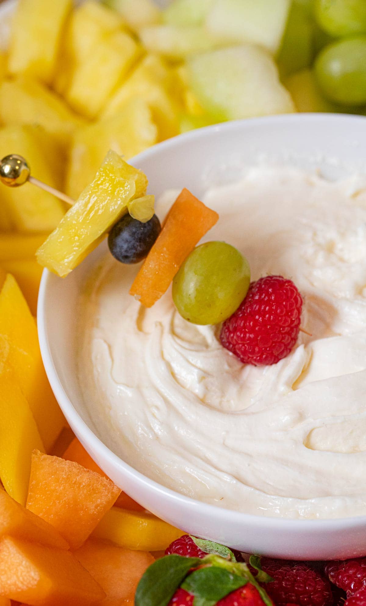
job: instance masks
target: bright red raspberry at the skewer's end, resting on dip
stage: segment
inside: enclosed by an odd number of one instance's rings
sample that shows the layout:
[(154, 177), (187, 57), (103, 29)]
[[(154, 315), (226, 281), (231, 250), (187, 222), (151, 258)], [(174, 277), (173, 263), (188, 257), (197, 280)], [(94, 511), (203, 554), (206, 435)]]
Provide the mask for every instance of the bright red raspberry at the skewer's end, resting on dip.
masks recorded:
[(267, 276), (252, 282), (240, 307), (223, 323), (221, 345), (243, 364), (276, 364), (296, 343), (301, 309), (291, 280)]

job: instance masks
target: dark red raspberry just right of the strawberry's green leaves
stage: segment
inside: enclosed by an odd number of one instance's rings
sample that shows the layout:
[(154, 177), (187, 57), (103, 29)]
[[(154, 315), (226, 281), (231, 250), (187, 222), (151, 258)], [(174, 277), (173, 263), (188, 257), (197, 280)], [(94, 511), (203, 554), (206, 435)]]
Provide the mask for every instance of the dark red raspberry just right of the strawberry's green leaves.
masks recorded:
[[(273, 581), (264, 588), (276, 606), (330, 606), (333, 594), (328, 579), (302, 562), (263, 558), (262, 568)], [(366, 605), (365, 605), (366, 606)]]

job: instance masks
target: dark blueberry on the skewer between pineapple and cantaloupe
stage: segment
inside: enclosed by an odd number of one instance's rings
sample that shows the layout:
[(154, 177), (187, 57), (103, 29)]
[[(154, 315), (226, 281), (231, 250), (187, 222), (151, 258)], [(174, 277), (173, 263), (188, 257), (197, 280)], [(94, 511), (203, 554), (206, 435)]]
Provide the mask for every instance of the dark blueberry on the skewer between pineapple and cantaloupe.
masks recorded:
[(156, 215), (146, 223), (124, 215), (109, 232), (109, 250), (121, 263), (139, 263), (148, 255), (161, 229)]

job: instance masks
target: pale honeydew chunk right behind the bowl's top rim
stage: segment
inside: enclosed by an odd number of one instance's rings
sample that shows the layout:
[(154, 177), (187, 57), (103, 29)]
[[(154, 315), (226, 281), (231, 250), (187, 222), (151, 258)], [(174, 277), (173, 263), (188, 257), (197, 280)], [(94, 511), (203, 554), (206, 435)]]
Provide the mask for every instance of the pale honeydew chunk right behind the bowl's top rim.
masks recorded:
[(215, 121), (294, 112), (289, 92), (264, 48), (252, 44), (223, 48), (192, 58), (189, 84)]

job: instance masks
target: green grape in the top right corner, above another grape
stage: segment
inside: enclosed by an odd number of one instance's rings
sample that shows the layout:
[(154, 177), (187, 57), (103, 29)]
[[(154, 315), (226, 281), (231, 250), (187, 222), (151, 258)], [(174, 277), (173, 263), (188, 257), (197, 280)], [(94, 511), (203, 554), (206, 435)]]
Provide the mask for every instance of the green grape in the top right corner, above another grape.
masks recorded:
[(320, 27), (331, 36), (366, 33), (365, 0), (315, 0), (314, 13)]

